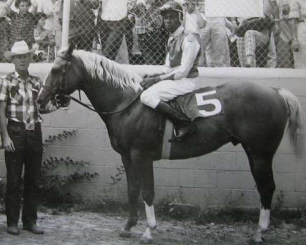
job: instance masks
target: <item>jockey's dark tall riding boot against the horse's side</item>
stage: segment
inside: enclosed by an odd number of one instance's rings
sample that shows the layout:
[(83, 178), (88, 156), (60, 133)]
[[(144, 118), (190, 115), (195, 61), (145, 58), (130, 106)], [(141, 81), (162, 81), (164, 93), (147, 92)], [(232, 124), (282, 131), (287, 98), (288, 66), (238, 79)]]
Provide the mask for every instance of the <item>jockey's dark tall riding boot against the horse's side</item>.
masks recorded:
[(190, 118), (175, 110), (166, 102), (161, 101), (155, 109), (165, 115), (177, 127), (179, 127), (177, 134), (169, 139), (169, 142), (174, 140), (182, 140), (188, 134), (196, 131), (196, 128), (194, 127)]

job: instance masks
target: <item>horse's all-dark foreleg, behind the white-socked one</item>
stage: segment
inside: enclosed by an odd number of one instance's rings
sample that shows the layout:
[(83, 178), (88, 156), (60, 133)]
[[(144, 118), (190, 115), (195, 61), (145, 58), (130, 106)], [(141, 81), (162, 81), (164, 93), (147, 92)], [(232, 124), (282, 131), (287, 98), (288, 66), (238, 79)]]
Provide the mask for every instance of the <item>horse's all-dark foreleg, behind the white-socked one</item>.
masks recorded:
[(121, 237), (130, 237), (131, 228), (137, 224), (137, 204), (139, 197), (139, 183), (137, 182), (137, 175), (133, 167), (132, 161), (129, 158), (121, 157), (125, 169), (127, 181), (127, 193), (129, 196), (129, 219), (126, 225), (120, 232)]

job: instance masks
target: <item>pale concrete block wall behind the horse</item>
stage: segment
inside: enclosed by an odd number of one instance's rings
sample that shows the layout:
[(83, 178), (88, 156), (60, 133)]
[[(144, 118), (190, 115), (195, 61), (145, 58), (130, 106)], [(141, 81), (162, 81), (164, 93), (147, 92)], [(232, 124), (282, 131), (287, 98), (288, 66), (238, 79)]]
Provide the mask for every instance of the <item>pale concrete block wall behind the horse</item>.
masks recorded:
[[(129, 66), (139, 74), (154, 72), (160, 67)], [(32, 64), (30, 70), (45, 77), (50, 64)], [(0, 64), (0, 74), (13, 70), (11, 64)], [(229, 81), (252, 81), (266, 86), (284, 87), (299, 99), (306, 114), (306, 70), (200, 68), (198, 86), (219, 85)], [(78, 94), (74, 94), (78, 97)], [(87, 103), (82, 93), (82, 101)], [(111, 176), (118, 173), (120, 156), (112, 150), (104, 122), (97, 114), (72, 102), (66, 111), (43, 115), (43, 135), (54, 135), (63, 130), (77, 129), (76, 136), (58, 141), (46, 149), (44, 157), (69, 156), (73, 160), (89, 161), (82, 171), (98, 173), (91, 181), (75, 183), (73, 191), (84, 197), (99, 199), (110, 189)], [(63, 167), (63, 174), (73, 167)], [(296, 159), (285, 135), (273, 162), (276, 192), (273, 204), (285, 208), (306, 206), (306, 157)], [(3, 150), (0, 151), (0, 177), (5, 179)], [(251, 176), (247, 157), (241, 145), (226, 144), (217, 151), (187, 160), (161, 160), (154, 164), (156, 200), (176, 199), (200, 206), (254, 208), (260, 206), (256, 184)], [(107, 191), (113, 198), (127, 201), (126, 180)]]

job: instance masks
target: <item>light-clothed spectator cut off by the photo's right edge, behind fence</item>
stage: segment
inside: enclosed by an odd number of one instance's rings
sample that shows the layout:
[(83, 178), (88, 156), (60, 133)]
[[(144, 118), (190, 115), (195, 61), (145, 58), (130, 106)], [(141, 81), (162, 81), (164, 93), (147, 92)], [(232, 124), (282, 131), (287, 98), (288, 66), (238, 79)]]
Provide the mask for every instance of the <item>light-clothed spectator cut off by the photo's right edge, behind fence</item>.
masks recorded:
[(294, 67), (306, 68), (306, 2), (290, 1), (289, 19), (292, 30), (292, 48), (294, 51)]

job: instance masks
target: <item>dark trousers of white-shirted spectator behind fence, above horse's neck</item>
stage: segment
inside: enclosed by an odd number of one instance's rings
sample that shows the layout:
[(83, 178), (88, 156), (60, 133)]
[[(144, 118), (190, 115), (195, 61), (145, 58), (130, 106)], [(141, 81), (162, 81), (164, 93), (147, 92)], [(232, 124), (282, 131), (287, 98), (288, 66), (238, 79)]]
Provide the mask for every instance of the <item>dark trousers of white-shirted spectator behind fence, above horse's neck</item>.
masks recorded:
[(115, 60), (125, 35), (127, 54), (129, 62), (132, 63), (133, 23), (125, 17), (119, 21), (99, 20), (97, 27), (100, 32), (102, 54), (110, 60)]

